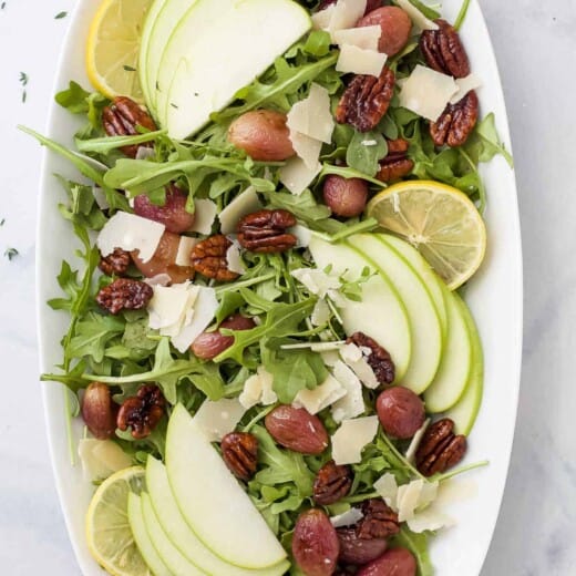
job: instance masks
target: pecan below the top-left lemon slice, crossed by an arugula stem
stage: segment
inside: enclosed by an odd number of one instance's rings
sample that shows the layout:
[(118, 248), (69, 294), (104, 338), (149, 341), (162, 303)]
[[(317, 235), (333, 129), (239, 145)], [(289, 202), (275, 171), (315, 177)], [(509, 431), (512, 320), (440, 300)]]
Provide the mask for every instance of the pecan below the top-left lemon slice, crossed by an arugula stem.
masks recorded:
[[(138, 134), (136, 126), (150, 131), (156, 130), (152, 116), (142, 106), (126, 96), (116, 96), (110, 106), (102, 111), (102, 125), (109, 136), (134, 136)], [(131, 158), (135, 158), (140, 146), (150, 147), (150, 144), (134, 144), (122, 146), (120, 150)]]

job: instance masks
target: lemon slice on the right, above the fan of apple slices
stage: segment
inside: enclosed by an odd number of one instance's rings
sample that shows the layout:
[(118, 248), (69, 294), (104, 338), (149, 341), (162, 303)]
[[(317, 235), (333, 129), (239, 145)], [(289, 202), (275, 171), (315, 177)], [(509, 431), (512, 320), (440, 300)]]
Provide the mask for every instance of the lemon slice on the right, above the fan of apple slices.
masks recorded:
[(401, 182), (377, 194), (367, 214), (418, 248), (451, 290), (462, 286), (482, 264), (484, 220), (474, 203), (452, 186)]

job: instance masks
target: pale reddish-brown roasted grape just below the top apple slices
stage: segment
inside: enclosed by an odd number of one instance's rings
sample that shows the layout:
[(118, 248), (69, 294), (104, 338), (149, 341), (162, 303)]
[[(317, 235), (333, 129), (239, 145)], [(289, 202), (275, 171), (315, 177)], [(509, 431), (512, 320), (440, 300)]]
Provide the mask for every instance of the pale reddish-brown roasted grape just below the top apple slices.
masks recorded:
[(236, 119), (228, 141), (261, 162), (281, 162), (295, 154), (286, 114), (272, 110), (254, 110)]

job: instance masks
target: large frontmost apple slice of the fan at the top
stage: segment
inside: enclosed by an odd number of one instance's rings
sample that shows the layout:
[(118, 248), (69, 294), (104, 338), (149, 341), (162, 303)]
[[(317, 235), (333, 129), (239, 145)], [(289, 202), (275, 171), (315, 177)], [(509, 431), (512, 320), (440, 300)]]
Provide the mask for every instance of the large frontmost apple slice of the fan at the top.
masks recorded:
[(171, 81), (167, 99), (161, 92), (156, 102), (168, 135), (199, 130), (310, 28), (308, 11), (292, 0), (198, 0), (160, 66), (161, 89)]

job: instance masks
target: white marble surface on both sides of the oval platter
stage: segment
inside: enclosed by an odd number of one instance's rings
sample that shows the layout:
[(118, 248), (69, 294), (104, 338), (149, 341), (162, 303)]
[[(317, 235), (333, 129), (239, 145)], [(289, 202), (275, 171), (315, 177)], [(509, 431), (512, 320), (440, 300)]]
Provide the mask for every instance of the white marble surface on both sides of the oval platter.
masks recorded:
[[(96, 1), (96, 0), (94, 0)], [(1, 3), (1, 2), (0, 2)], [(59, 510), (38, 384), (34, 226), (42, 130), (74, 0), (0, 10), (0, 574), (80, 573)], [(481, 0), (507, 100), (525, 263), (525, 343), (516, 440), (482, 576), (576, 572), (576, 3)], [(83, 47), (79, 47), (81, 50)], [(22, 103), (20, 72), (29, 74)], [(9, 261), (9, 247), (19, 255)], [(500, 385), (508, 385), (500, 382)], [(466, 575), (463, 575), (466, 576)]]

